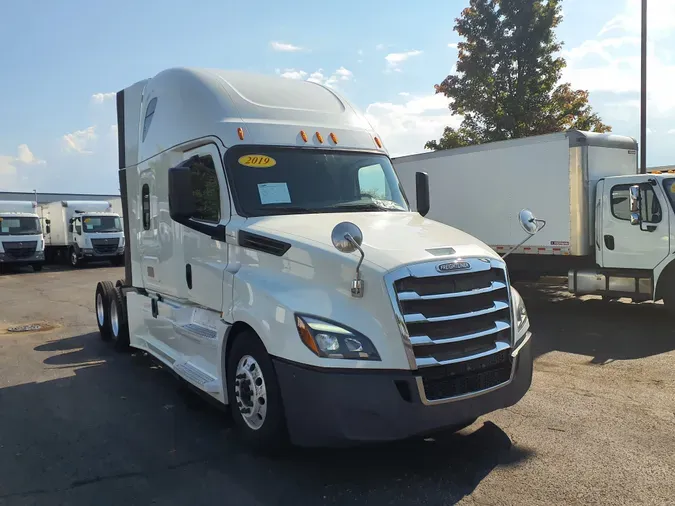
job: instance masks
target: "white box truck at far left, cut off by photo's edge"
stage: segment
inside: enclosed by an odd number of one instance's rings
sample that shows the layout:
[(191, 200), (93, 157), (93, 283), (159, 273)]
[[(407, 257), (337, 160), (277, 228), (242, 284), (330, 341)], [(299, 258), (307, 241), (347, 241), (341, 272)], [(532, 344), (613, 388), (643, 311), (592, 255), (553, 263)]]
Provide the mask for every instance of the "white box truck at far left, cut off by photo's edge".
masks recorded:
[(30, 265), (42, 270), (44, 244), (37, 204), (0, 200), (0, 268)]

